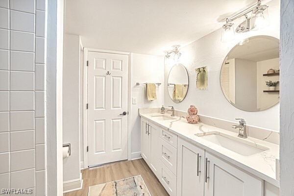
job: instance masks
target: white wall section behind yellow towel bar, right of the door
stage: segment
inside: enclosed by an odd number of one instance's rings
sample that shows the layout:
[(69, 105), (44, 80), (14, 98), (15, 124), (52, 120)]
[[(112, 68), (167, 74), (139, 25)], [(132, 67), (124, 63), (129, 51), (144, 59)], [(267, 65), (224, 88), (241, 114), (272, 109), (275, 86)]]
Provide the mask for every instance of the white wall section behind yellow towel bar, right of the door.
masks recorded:
[[(144, 107), (161, 107), (163, 105), (163, 89), (165, 86), (163, 84), (163, 57), (135, 53), (131, 54), (131, 56), (131, 97), (129, 100), (137, 98), (137, 104), (131, 104), (129, 115), (129, 118), (131, 118), (129, 121), (129, 131), (131, 131), (131, 152), (134, 153), (141, 151), (141, 124), (138, 109)], [(160, 86), (156, 85), (157, 100), (147, 101), (146, 86), (137, 86), (137, 82), (162, 83)]]

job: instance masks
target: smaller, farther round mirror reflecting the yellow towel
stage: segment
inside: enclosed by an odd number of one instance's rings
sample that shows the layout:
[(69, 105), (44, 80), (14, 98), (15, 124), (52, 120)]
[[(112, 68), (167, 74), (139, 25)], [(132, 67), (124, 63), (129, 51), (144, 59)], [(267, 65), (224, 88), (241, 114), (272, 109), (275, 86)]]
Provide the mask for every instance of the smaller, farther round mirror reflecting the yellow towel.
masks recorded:
[(175, 64), (169, 74), (168, 91), (170, 98), (175, 103), (179, 103), (187, 95), (189, 78), (188, 72), (184, 65)]

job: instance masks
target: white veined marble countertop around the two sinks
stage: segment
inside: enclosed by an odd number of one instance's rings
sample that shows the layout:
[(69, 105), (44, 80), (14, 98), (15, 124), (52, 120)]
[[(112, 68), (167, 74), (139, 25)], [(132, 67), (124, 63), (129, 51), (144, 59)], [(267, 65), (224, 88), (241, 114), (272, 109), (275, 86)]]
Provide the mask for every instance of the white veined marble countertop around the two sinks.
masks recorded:
[[(254, 143), (255, 145), (267, 147), (269, 148), (269, 150), (250, 156), (243, 156), (195, 135), (197, 133), (218, 131), (220, 133), (224, 133), (237, 138), (237, 134), (234, 132), (204, 123), (190, 124), (187, 123), (185, 117), (183, 116), (175, 116), (173, 117), (175, 119), (172, 120), (158, 120), (157, 118), (154, 118), (156, 115), (160, 115), (160, 113), (158, 113), (156, 110), (145, 110), (144, 112), (139, 111), (139, 115), (148, 120), (151, 120), (152, 122), (162, 127), (168, 128), (169, 131), (178, 135), (178, 137), (204, 148), (208, 152), (217, 155), (218, 157), (236, 165), (237, 167), (249, 173), (252, 173), (257, 177), (260, 177), (277, 187), (280, 186), (279, 181), (276, 179), (275, 166), (275, 159), (279, 157), (278, 145), (248, 137), (244, 140)], [(170, 114), (165, 115), (169, 116)]]

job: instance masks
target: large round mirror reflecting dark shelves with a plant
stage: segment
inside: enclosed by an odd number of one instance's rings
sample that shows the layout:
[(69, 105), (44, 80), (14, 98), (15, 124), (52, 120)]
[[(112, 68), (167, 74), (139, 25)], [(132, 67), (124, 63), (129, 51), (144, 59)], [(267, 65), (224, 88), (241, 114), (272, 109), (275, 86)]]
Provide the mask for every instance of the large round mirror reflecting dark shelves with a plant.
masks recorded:
[(279, 102), (279, 60), (277, 38), (254, 36), (240, 42), (222, 63), (223, 95), (235, 107), (249, 112), (274, 106)]

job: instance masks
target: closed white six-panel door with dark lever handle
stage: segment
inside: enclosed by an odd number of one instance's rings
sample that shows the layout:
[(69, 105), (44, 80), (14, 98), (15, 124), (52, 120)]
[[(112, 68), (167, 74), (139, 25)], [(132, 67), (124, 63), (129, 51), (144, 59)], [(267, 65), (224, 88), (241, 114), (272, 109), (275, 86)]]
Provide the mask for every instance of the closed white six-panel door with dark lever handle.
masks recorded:
[(126, 160), (128, 56), (89, 51), (88, 61), (88, 166)]

